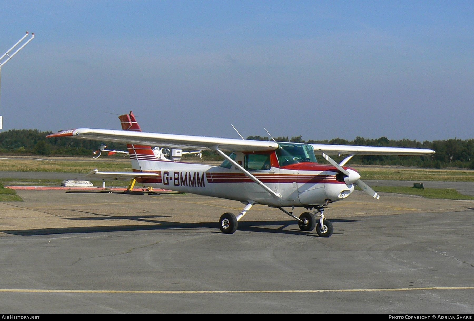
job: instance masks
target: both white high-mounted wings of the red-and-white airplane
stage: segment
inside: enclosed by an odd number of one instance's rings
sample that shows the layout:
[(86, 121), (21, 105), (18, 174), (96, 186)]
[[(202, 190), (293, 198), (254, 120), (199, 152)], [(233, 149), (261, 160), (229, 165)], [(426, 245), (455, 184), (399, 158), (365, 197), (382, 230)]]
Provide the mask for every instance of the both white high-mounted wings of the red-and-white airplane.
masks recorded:
[[(275, 142), (240, 140), (207, 136), (147, 133), (126, 130), (77, 128), (46, 136), (73, 137), (96, 141), (152, 145), (166, 148), (187, 148), (227, 152), (264, 152), (278, 149)], [(371, 147), (353, 145), (310, 144), (316, 153), (327, 155), (429, 155), (435, 151), (420, 148)]]

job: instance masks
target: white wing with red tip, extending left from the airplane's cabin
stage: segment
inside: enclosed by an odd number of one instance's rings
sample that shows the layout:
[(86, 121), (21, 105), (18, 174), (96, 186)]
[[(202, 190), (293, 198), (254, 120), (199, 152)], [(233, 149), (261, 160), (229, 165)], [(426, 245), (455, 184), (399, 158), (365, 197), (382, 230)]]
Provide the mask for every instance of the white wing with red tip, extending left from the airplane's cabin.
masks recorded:
[(71, 129), (64, 132), (50, 134), (46, 137), (73, 137), (95, 141), (132, 143), (166, 148), (186, 148), (206, 151), (220, 149), (227, 152), (263, 152), (272, 151), (278, 148), (278, 143), (275, 142), (93, 128)]

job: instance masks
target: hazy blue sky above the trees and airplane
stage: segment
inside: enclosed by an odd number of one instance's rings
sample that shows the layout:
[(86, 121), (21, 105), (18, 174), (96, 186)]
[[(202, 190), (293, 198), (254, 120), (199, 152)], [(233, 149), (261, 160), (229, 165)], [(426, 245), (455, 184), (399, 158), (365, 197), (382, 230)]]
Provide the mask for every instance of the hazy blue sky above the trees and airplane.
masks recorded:
[[(3, 130), (474, 137), (472, 1), (2, 1)], [(112, 114), (110, 114), (112, 113)]]

